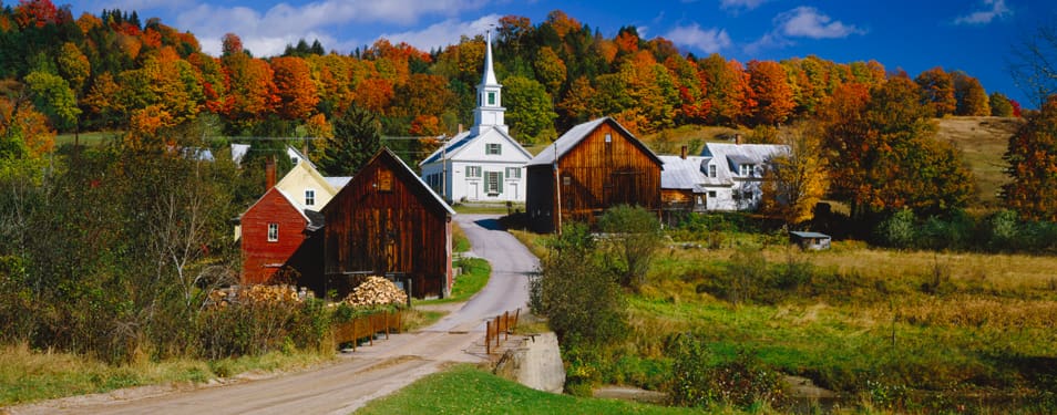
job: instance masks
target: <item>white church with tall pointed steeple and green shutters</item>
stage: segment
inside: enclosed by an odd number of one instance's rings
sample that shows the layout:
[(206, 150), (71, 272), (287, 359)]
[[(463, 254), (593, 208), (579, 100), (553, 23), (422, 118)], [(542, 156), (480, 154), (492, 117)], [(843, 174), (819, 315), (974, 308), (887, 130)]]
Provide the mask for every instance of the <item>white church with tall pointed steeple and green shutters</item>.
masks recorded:
[(492, 33), (486, 35), (484, 76), (478, 85), (473, 126), (447, 139), (419, 164), (422, 179), (449, 203), (524, 203), (525, 164), (532, 155), (503, 122), (503, 85), (492, 71)]

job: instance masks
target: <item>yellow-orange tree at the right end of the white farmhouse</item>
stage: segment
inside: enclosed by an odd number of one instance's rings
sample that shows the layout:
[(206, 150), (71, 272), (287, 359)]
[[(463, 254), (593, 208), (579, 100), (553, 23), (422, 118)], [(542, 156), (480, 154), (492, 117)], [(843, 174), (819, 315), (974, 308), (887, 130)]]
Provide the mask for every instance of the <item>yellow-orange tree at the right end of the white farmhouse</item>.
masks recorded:
[(798, 125), (780, 135), (787, 153), (768, 160), (761, 210), (798, 225), (814, 217), (814, 206), (829, 188), (821, 132), (814, 124)]

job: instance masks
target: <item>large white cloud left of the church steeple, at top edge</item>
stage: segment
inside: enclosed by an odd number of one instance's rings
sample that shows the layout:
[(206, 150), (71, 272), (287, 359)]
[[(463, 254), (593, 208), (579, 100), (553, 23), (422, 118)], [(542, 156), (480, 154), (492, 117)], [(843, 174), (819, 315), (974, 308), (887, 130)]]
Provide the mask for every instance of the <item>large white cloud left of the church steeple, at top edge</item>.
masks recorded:
[[(326, 48), (343, 50), (345, 46), (362, 44), (362, 40), (336, 40), (318, 33), (357, 23), (412, 25), (428, 15), (458, 15), (461, 11), (480, 8), (484, 1), (322, 0), (300, 6), (278, 3), (263, 12), (246, 7), (199, 3), (182, 9), (176, 15), (175, 27), (195, 33), (203, 51), (209, 54), (219, 54), (220, 38), (225, 33), (235, 33), (254, 55), (268, 56), (281, 53), (286, 44), (299, 39), (319, 39)], [(458, 41), (458, 34), (455, 39)]]

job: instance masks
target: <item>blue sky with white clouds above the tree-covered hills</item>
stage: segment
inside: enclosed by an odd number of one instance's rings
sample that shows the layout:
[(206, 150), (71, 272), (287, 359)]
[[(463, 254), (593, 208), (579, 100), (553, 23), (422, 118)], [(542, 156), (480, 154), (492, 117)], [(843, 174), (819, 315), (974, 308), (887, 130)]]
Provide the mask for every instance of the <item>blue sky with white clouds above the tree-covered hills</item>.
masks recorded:
[(874, 59), (911, 76), (934, 66), (962, 70), (1025, 106), (1007, 71), (1010, 49), (1057, 18), (1057, 2), (1047, 0), (86, 0), (72, 7), (75, 17), (121, 9), (144, 21), (161, 18), (213, 54), (233, 32), (256, 56), (281, 53), (301, 38), (340, 53), (380, 37), (430, 50), (483, 33), (506, 14), (535, 24), (560, 9), (606, 37), (635, 25), (646, 39), (665, 37), (699, 56)]

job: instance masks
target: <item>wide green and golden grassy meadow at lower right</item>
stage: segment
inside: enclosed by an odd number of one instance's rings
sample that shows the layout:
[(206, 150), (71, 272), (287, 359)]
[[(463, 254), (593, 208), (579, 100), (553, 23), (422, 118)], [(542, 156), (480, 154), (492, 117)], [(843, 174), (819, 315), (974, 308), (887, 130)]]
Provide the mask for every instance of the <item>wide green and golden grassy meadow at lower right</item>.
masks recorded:
[[(545, 255), (538, 236), (516, 235)], [(628, 292), (625, 342), (566, 356), (574, 393), (664, 390), (668, 345), (689, 334), (716, 362), (747, 354), (859, 409), (1057, 408), (1055, 257), (855, 241), (814, 252), (743, 232), (708, 249), (700, 239), (664, 248)]]

